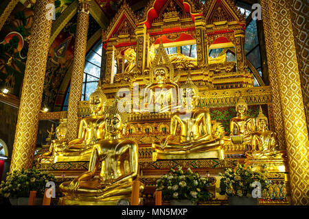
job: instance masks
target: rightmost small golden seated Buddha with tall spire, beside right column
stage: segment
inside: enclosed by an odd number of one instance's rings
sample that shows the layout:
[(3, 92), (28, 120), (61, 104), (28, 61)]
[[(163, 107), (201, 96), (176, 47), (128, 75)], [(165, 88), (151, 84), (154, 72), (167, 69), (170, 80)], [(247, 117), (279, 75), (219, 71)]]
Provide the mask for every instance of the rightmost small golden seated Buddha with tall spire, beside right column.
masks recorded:
[(246, 156), (253, 159), (282, 159), (284, 153), (277, 151), (276, 133), (268, 130), (268, 119), (261, 106), (259, 111), (256, 118), (257, 131), (251, 133), (252, 150), (247, 151)]

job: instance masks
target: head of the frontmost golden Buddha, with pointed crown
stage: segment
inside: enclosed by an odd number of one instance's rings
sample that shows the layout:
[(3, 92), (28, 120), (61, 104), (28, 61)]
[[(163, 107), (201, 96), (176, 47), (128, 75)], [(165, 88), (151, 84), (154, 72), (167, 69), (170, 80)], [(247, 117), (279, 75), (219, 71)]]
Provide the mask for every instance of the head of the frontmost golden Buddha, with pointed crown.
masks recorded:
[(126, 128), (126, 112), (120, 112), (117, 103), (116, 99), (115, 103), (106, 110), (105, 130), (110, 136), (119, 136)]

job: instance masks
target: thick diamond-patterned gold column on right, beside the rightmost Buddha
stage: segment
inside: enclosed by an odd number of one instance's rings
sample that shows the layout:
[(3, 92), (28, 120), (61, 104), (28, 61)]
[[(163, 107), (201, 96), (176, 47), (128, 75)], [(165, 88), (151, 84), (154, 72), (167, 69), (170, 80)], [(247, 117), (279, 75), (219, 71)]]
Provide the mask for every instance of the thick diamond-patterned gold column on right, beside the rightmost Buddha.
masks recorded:
[[(262, 0), (261, 3), (265, 37), (270, 37), (267, 39), (266, 49), (267, 53), (271, 51), (275, 61), (270, 67), (276, 68), (278, 73), (277, 83), (284, 118), (291, 203), (309, 205), (309, 141), (290, 17), (290, 1)], [(269, 47), (273, 47), (273, 50), (269, 50)]]

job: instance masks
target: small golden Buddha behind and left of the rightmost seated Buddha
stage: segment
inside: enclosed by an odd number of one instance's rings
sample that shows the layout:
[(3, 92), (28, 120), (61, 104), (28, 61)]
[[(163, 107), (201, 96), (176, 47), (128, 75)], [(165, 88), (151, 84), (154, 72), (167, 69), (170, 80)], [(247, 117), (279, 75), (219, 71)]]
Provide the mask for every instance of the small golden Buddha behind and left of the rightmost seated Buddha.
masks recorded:
[(234, 144), (250, 144), (250, 133), (255, 131), (255, 120), (251, 116), (246, 116), (248, 105), (240, 96), (236, 103), (237, 116), (229, 120), (229, 130), (231, 131), (231, 141)]

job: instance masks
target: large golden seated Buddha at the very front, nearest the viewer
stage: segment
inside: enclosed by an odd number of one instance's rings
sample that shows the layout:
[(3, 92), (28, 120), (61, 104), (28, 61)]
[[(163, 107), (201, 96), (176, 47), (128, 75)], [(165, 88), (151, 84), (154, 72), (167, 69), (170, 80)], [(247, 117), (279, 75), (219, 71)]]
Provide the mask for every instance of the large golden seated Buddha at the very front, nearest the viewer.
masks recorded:
[[(106, 139), (93, 144), (88, 172), (60, 185), (65, 205), (115, 205), (119, 199), (130, 200), (133, 180), (137, 177), (138, 146), (122, 138), (126, 113), (119, 112), (117, 101), (105, 118)], [(101, 166), (100, 175), (95, 172)], [(144, 185), (140, 185), (144, 189)]]

